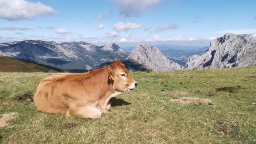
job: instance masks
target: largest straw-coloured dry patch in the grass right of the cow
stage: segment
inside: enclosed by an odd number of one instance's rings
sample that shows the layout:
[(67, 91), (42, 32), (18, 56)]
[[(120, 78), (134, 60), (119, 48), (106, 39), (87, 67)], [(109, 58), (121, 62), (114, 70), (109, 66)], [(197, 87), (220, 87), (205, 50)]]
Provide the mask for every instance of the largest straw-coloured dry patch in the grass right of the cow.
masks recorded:
[(194, 104), (194, 105), (212, 105), (213, 102), (210, 99), (200, 99), (193, 97), (183, 97), (180, 99), (171, 98), (170, 101), (176, 102), (178, 104), (186, 105), (186, 104)]

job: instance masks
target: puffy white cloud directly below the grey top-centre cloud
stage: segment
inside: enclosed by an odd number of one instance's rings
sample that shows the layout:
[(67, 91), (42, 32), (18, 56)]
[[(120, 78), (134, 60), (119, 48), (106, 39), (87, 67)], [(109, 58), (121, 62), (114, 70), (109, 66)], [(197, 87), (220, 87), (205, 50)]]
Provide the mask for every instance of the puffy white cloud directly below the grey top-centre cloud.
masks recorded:
[(130, 29), (141, 29), (141, 25), (140, 24), (135, 24), (135, 23), (131, 23), (131, 22), (127, 22), (126, 24), (122, 23), (122, 22), (118, 22), (117, 24), (114, 25), (114, 29), (117, 32), (121, 32), (121, 31), (125, 31), (127, 32)]

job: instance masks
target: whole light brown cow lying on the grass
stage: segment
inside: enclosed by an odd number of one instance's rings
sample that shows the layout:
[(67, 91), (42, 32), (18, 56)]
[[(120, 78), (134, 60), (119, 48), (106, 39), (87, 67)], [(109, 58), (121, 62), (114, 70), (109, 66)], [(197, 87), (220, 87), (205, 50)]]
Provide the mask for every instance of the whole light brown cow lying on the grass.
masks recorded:
[(34, 101), (42, 112), (99, 118), (111, 108), (112, 97), (137, 85), (125, 65), (114, 61), (93, 72), (51, 75), (38, 84)]

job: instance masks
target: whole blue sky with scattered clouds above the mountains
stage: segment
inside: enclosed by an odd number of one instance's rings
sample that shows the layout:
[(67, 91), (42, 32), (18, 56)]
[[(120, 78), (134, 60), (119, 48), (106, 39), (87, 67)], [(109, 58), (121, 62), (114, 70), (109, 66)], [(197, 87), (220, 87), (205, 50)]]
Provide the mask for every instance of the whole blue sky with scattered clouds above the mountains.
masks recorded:
[(0, 42), (207, 46), (256, 35), (256, 0), (0, 0)]

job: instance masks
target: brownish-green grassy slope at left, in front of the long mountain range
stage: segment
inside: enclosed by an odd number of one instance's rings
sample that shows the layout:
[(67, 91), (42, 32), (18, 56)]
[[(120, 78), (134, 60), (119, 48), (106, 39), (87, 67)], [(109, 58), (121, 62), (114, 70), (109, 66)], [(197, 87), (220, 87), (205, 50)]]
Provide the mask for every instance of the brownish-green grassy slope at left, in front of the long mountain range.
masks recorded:
[(64, 72), (56, 67), (37, 64), (32, 61), (0, 56), (0, 72)]

